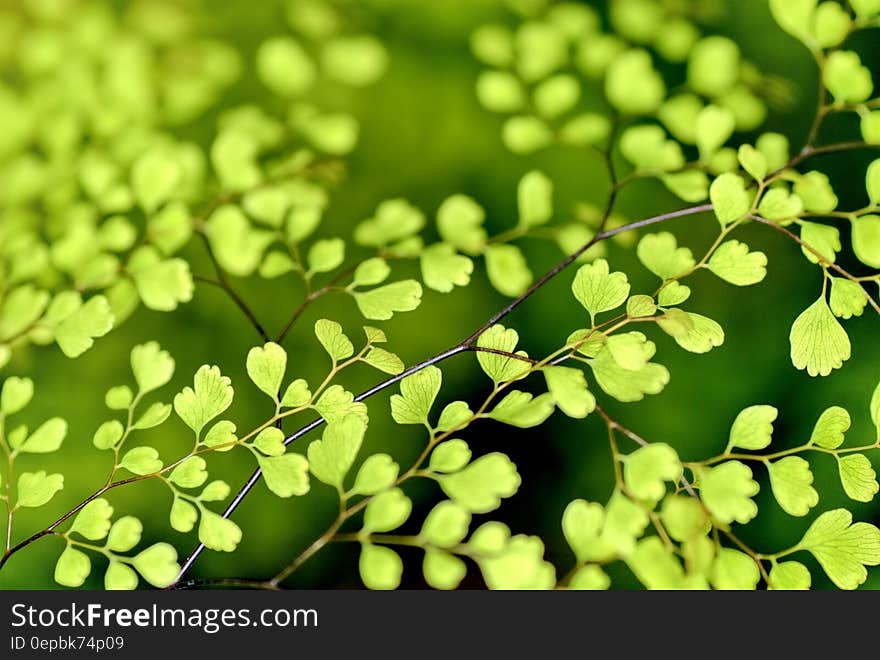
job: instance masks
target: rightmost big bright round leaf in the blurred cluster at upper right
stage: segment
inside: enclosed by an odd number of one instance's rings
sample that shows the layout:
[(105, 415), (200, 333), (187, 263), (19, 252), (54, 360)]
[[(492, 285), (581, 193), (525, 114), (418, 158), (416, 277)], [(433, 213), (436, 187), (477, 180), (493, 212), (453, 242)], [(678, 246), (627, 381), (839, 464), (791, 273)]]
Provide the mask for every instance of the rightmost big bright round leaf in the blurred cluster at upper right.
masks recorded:
[(627, 115), (651, 114), (666, 96), (662, 76), (647, 51), (634, 49), (615, 57), (605, 78), (608, 102)]

